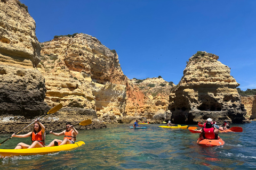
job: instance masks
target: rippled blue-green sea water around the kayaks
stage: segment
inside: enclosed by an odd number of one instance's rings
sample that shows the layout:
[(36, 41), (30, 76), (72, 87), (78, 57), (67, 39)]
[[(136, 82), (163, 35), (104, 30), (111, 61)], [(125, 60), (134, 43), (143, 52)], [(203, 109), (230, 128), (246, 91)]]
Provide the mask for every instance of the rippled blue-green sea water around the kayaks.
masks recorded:
[[(220, 133), (220, 147), (201, 147), (198, 134), (187, 129), (130, 129), (131, 124), (106, 129), (80, 130), (77, 140), (85, 145), (56, 154), (0, 159), (1, 169), (256, 169), (256, 122), (232, 124), (243, 132)], [(195, 126), (195, 125), (191, 125)], [(1, 134), (0, 142), (11, 134)], [(46, 144), (55, 137), (46, 135)], [(29, 138), (12, 138), (1, 149), (12, 149)]]

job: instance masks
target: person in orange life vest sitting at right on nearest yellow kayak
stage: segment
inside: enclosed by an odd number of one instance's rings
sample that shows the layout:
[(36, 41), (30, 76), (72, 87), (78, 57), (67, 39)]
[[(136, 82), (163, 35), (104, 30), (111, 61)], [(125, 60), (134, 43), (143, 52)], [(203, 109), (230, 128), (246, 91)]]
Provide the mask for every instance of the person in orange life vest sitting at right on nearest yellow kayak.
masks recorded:
[(78, 131), (70, 124), (70, 122), (67, 122), (66, 130), (60, 133), (54, 133), (50, 131), (50, 133), (54, 134), (57, 137), (61, 135), (65, 135), (65, 136), (63, 140), (54, 139), (47, 147), (60, 146), (65, 144), (74, 144), (76, 141), (76, 135), (78, 134)]

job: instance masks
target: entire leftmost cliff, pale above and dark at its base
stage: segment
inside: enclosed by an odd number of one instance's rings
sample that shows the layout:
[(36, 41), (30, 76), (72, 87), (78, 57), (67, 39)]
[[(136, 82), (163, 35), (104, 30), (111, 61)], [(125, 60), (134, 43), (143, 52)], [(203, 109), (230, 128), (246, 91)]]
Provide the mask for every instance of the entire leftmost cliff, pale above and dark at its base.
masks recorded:
[[(47, 113), (44, 78), (35, 66), (41, 47), (35, 21), (18, 1), (0, 1), (0, 116)], [(0, 121), (1, 121), (0, 120)]]

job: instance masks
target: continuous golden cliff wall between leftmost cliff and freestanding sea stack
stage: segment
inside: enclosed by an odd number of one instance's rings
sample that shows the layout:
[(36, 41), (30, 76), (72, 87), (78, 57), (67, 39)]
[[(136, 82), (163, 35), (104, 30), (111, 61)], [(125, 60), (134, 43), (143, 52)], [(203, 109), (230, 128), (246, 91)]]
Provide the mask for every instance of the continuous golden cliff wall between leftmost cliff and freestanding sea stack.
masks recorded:
[[(97, 38), (75, 33), (55, 36), (41, 46), (38, 70), (45, 77), (45, 101), (50, 106), (62, 103), (66, 107), (93, 109), (100, 121), (112, 123), (130, 123), (136, 116), (150, 119), (157, 111), (166, 111), (171, 88), (168, 82), (162, 78), (143, 83), (130, 81), (123, 74), (115, 50)], [(147, 94), (150, 82), (156, 87)], [(167, 85), (159, 86), (161, 83)]]

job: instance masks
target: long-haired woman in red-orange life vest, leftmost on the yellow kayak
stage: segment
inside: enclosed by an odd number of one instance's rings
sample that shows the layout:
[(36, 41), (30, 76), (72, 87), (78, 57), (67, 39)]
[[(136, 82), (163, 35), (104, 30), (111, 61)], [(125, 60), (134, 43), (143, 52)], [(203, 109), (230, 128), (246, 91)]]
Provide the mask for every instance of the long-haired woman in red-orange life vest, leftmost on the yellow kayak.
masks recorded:
[(20, 142), (14, 149), (30, 149), (30, 148), (41, 148), (45, 147), (45, 127), (44, 125), (35, 120), (34, 129), (32, 132), (27, 134), (12, 134), (12, 137), (16, 138), (27, 138), (31, 137), (32, 145), (27, 145), (26, 143)]

